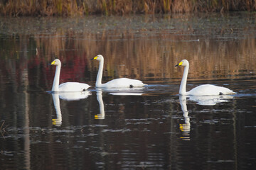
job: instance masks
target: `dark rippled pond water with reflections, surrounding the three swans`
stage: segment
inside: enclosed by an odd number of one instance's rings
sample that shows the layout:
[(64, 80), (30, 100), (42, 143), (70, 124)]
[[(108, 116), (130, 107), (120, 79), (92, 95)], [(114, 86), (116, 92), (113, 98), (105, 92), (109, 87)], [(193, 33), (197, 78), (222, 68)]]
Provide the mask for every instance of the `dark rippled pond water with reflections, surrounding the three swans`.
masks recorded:
[[(253, 169), (255, 13), (0, 18), (0, 169)], [(141, 89), (95, 89), (141, 79)], [(82, 93), (50, 94), (60, 83)], [(229, 96), (179, 96), (225, 86)]]

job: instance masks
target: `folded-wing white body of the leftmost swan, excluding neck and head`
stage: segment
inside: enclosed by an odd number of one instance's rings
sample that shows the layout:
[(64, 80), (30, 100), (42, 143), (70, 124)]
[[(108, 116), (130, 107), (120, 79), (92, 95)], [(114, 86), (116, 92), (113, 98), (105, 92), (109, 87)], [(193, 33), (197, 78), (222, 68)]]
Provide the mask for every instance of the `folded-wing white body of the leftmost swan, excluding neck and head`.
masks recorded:
[(82, 84), (77, 82), (66, 82), (60, 84), (59, 91), (85, 91), (90, 86), (88, 84)]

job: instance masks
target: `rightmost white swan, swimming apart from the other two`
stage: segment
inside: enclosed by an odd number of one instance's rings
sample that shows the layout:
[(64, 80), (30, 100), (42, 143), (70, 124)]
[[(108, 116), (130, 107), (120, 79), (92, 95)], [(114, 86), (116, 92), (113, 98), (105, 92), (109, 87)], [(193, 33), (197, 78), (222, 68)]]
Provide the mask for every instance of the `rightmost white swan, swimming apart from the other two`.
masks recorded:
[(188, 78), (188, 69), (189, 69), (189, 62), (188, 60), (182, 60), (178, 64), (176, 64), (175, 67), (177, 66), (184, 66), (184, 72), (183, 72), (183, 77), (181, 80), (181, 86), (179, 89), (179, 94), (181, 95), (190, 95), (190, 96), (208, 96), (208, 95), (223, 95), (223, 94), (236, 94), (234, 91), (222, 87), (222, 86), (214, 86), (212, 84), (204, 84), (201, 86), (197, 86), (191, 91), (186, 92), (186, 81)]

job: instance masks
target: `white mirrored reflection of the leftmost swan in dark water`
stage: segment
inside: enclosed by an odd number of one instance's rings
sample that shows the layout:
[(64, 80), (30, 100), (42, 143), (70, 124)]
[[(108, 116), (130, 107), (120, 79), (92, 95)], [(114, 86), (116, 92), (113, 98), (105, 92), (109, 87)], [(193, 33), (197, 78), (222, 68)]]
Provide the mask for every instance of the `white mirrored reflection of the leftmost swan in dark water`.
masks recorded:
[(60, 98), (64, 101), (79, 101), (81, 99), (87, 98), (91, 95), (90, 91), (79, 91), (79, 92), (63, 92), (63, 93), (53, 93), (53, 104), (56, 111), (55, 119), (52, 119), (53, 125), (60, 126), (62, 124), (62, 115), (60, 111)]

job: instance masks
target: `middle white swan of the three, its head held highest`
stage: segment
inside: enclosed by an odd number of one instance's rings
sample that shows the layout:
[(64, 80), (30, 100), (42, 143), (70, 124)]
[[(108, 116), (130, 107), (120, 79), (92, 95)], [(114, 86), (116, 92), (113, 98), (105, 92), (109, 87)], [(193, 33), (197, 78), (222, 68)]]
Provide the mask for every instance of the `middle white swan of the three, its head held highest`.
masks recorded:
[(105, 84), (102, 84), (102, 72), (103, 72), (103, 64), (104, 64), (104, 57), (102, 55), (97, 55), (96, 57), (92, 58), (92, 60), (97, 60), (100, 62), (97, 79), (96, 79), (96, 87), (99, 88), (132, 88), (132, 87), (139, 87), (145, 86), (146, 84), (142, 83), (142, 81), (137, 79), (127, 79), (127, 78), (119, 78), (113, 79), (108, 81)]

